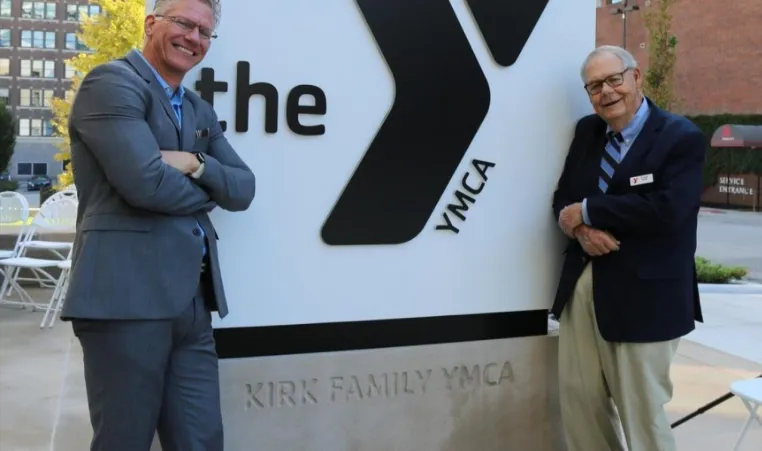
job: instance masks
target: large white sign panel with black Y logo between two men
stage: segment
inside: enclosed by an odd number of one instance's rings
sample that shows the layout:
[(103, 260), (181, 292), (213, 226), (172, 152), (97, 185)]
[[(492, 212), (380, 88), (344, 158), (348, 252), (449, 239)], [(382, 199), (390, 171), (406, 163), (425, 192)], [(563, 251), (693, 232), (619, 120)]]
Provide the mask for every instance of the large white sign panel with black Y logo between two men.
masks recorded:
[(257, 194), (212, 215), (231, 310), (215, 327), (549, 307), (595, 14), (506, 3), (222, 2), (184, 85), (213, 99)]

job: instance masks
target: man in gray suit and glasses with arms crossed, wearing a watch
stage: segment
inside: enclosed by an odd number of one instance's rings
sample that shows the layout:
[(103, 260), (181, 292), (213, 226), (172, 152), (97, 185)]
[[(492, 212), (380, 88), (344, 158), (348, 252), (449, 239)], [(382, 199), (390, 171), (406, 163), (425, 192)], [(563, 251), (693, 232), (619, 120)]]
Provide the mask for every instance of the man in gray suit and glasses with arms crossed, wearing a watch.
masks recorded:
[[(216, 37), (219, 0), (157, 0), (142, 52), (96, 67), (72, 105), (77, 237), (62, 318), (84, 353), (91, 450), (222, 451), (211, 311), (227, 312), (215, 207), (254, 175), (211, 106), (181, 86)], [(230, 237), (235, 239), (235, 237)]]

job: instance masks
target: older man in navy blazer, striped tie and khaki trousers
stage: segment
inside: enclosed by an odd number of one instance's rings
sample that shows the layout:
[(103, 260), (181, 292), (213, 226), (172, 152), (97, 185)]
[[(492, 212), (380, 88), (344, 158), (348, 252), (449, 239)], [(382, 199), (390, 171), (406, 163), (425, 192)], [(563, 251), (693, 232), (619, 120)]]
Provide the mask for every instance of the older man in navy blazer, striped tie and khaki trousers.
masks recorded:
[(643, 95), (622, 48), (595, 49), (581, 76), (596, 114), (577, 123), (553, 196), (569, 239), (552, 307), (567, 446), (623, 451), (621, 424), (629, 451), (674, 451), (670, 366), (702, 321), (694, 254), (706, 138)]

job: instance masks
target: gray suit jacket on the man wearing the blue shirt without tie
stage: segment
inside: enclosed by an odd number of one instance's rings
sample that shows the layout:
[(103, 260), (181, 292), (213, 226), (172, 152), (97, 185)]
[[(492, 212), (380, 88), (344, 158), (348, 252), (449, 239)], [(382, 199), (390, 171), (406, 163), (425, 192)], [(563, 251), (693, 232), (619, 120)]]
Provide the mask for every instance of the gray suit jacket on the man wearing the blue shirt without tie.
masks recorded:
[[(77, 235), (62, 318), (167, 319), (189, 305), (207, 236), (220, 317), (228, 313), (207, 213), (246, 210), (254, 174), (230, 146), (211, 106), (186, 90), (182, 128), (142, 56), (90, 71), (72, 105), (71, 163), (79, 193)], [(196, 131), (209, 129), (206, 137)], [(160, 150), (204, 152), (194, 180)]]

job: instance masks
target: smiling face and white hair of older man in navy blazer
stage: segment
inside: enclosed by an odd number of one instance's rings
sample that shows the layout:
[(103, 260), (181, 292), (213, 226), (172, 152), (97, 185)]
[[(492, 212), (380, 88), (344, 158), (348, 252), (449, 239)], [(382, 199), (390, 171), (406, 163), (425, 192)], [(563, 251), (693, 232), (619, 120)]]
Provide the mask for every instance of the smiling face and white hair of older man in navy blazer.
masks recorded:
[(585, 89), (595, 112), (620, 131), (635, 116), (642, 100), (640, 69), (626, 68), (616, 55), (601, 53), (585, 69)]

